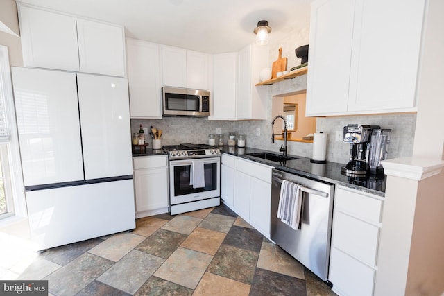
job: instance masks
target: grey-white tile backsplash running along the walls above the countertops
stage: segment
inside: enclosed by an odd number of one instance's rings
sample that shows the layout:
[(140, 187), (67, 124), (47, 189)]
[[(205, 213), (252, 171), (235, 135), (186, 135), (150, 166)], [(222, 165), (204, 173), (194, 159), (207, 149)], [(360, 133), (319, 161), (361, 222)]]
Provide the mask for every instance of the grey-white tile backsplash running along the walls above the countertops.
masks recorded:
[[(270, 100), (271, 101), (271, 100)], [(413, 154), (413, 137), (415, 132), (416, 114), (386, 114), (367, 116), (334, 116), (319, 117), (316, 131), (327, 134), (327, 160), (345, 164), (348, 162), (349, 144), (335, 141), (336, 131), (342, 131), (348, 123), (380, 125), (391, 128), (391, 143), (388, 146), (388, 158), (411, 156)], [(138, 132), (139, 125), (149, 128), (161, 128), (162, 145), (177, 143), (207, 143), (208, 134), (216, 134), (221, 128), (225, 143), (229, 132), (244, 134), (246, 146), (264, 150), (279, 151), (282, 141), (271, 143), (271, 112), (270, 119), (260, 121), (209, 121), (207, 118), (196, 117), (165, 117), (164, 119), (132, 119), (132, 132)], [(256, 135), (259, 128), (260, 136)], [(150, 147), (151, 139), (147, 139)], [(312, 144), (288, 142), (288, 153), (311, 157)]]

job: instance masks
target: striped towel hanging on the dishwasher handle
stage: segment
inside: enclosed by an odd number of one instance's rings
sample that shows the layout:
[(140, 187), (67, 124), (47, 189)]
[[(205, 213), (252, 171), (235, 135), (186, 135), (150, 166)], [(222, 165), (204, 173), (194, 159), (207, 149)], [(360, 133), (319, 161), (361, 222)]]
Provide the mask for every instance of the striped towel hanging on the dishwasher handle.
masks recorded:
[(293, 229), (300, 229), (302, 192), (300, 184), (282, 181), (278, 206), (278, 218)]

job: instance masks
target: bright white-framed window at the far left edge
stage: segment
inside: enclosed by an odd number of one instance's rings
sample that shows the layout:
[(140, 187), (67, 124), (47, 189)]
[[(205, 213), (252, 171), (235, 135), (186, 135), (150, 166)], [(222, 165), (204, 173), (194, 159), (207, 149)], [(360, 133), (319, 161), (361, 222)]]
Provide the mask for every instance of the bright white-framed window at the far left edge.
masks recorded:
[(8, 48), (0, 46), (0, 219), (26, 216)]

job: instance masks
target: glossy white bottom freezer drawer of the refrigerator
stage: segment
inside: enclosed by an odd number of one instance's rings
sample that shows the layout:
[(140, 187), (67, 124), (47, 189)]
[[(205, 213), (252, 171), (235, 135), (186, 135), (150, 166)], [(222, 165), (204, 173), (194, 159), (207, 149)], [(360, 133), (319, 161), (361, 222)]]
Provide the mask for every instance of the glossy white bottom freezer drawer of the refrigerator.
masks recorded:
[(133, 180), (26, 192), (39, 250), (135, 228)]

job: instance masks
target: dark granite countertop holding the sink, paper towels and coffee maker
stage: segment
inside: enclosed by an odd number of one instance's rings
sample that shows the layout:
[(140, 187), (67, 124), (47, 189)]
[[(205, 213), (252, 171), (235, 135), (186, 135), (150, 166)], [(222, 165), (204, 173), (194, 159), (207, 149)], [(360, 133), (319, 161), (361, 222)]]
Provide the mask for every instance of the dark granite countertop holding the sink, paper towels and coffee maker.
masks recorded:
[(237, 146), (221, 146), (219, 147), (223, 153), (228, 153), (244, 159), (250, 159), (261, 164), (274, 166), (278, 170), (287, 173), (293, 173), (304, 177), (309, 177), (314, 180), (329, 182), (332, 184), (340, 184), (352, 189), (364, 191), (378, 196), (385, 196), (386, 177), (379, 179), (368, 177), (365, 180), (352, 180), (350, 177), (341, 174), (341, 167), (345, 164), (338, 164), (336, 162), (327, 162), (326, 164), (314, 164), (310, 162), (307, 157), (300, 157), (298, 155), (289, 155), (298, 157), (298, 159), (287, 160), (285, 162), (272, 162), (270, 160), (253, 157), (247, 154), (257, 152), (278, 153), (277, 151), (262, 150), (257, 148), (238, 148)]

